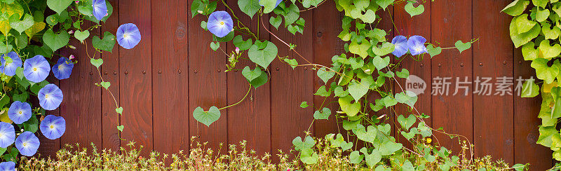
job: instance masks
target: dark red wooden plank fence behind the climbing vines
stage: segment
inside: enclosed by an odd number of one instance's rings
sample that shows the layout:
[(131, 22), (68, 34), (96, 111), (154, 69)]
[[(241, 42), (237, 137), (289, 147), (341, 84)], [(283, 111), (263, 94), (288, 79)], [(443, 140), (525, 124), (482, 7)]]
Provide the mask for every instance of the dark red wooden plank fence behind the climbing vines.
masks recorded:
[[(72, 77), (58, 82), (65, 100), (54, 114), (64, 116), (67, 130), (59, 140), (43, 140), (41, 153), (52, 154), (63, 144), (90, 144), (107, 149), (117, 149), (126, 144), (120, 140), (117, 125), (125, 125), (123, 139), (142, 144), (145, 151), (177, 153), (189, 149), (189, 138), (199, 136), (210, 147), (219, 143), (236, 144), (248, 140), (248, 146), (259, 153), (276, 153), (277, 149), (292, 148), (292, 139), (304, 135), (313, 120), (313, 108), (302, 109), (300, 102), (316, 107), (323, 98), (313, 95), (323, 86), (310, 67), (292, 69), (279, 60), (269, 67), (269, 82), (253, 89), (250, 97), (241, 104), (222, 111), (219, 121), (207, 128), (197, 123), (192, 111), (198, 106), (224, 107), (238, 102), (248, 84), (241, 71), (224, 72), (227, 57), (212, 51), (211, 34), (200, 27), (203, 18), (191, 18), (190, 1), (179, 0), (111, 0), (114, 13), (93, 34), (115, 32), (120, 24), (133, 22), (142, 34), (142, 41), (132, 50), (115, 46), (113, 53), (101, 55), (104, 60), (102, 76), (111, 82), (111, 91), (123, 115), (115, 113), (115, 102), (107, 91), (94, 85), (100, 81), (95, 67), (86, 57), (86, 46), (73, 40), (76, 50), (66, 50), (62, 55), (76, 55), (79, 63)], [(511, 17), (500, 13), (508, 0), (437, 0), (424, 4), (425, 12), (411, 18), (403, 6), (380, 11), (383, 22), (378, 24), (391, 29), (393, 35), (421, 35), (442, 47), (452, 47), (457, 40), (479, 39), (473, 47), (459, 53), (444, 50), (441, 55), (424, 57), (421, 62), (411, 58), (403, 60), (403, 67), (411, 74), (427, 81), (431, 78), (508, 76), (518, 78), (535, 76), (529, 62), (522, 59), (520, 49), (513, 48), (508, 36)], [(227, 1), (237, 6), (236, 1)], [(222, 8), (223, 7), (219, 7)], [(300, 15), (306, 20), (304, 34), (293, 36), (286, 29), (278, 31), (267, 25), (250, 22), (238, 8), (236, 15), (253, 30), (259, 29), (262, 39), (269, 39), (279, 47), (279, 55), (295, 57), (288, 48), (264, 31), (264, 27), (278, 33), (280, 39), (297, 44), (297, 50), (318, 64), (330, 64), (331, 57), (344, 52), (344, 42), (337, 38), (341, 30), (340, 13), (334, 3), (326, 3)], [(395, 28), (391, 22), (395, 22)], [(88, 40), (86, 40), (88, 41)], [(90, 42), (90, 41), (89, 41)], [(224, 50), (233, 50), (231, 43), (222, 43)], [(91, 49), (91, 47), (90, 47)], [(90, 50), (90, 53), (91, 50)], [(90, 54), (92, 55), (92, 54)], [(299, 63), (304, 63), (302, 59)], [(248, 61), (238, 64), (243, 68)], [(403, 85), (405, 81), (400, 80)], [(397, 85), (394, 85), (397, 88)], [(473, 90), (475, 83), (467, 85)], [(451, 90), (455, 85), (452, 84)], [(531, 163), (532, 170), (545, 170), (553, 161), (549, 149), (535, 144), (539, 137), (537, 118), (541, 100), (520, 98), (516, 95), (431, 95), (419, 96), (416, 104), (421, 113), (429, 114), (428, 123), (434, 128), (465, 135), (475, 144), (475, 156), (487, 154), (503, 158), (508, 163)], [(331, 105), (332, 109), (337, 109)], [(406, 114), (405, 109), (396, 109)], [(391, 116), (391, 115), (389, 115)], [(334, 118), (316, 121), (311, 132), (318, 137), (337, 132)], [(438, 141), (459, 149), (458, 142), (444, 136)]]

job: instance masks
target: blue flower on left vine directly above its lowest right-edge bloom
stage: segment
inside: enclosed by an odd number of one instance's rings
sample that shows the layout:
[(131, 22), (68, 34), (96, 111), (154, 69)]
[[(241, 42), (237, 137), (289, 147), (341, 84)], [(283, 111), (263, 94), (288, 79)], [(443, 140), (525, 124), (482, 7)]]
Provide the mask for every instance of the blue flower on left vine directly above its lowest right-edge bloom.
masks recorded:
[(41, 88), (39, 93), (37, 93), (37, 97), (39, 97), (39, 104), (43, 109), (52, 111), (60, 106), (63, 95), (62, 90), (51, 83)]

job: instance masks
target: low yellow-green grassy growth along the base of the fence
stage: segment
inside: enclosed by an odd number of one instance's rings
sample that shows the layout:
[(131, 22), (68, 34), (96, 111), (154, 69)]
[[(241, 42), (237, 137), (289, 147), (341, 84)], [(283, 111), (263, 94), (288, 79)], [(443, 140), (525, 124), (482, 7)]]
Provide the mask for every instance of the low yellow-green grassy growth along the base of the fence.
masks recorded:
[[(22, 157), (19, 170), (369, 170), (365, 163), (351, 164), (347, 153), (325, 146), (325, 142), (316, 146), (320, 159), (313, 165), (293, 160), (297, 158), (291, 156), (297, 155), (295, 151), (279, 151), (280, 154), (276, 156), (267, 153), (259, 156), (246, 148), (245, 141), (229, 145), (227, 153), (206, 149), (205, 144), (193, 138), (189, 153), (179, 151), (168, 155), (152, 151), (149, 156), (141, 156), (142, 146), (135, 146), (134, 142), (126, 144), (119, 151), (99, 150), (94, 144), (91, 144), (90, 149), (79, 144), (67, 144), (54, 158)], [(271, 162), (273, 157), (280, 162)], [(486, 156), (475, 160), (473, 165), (461, 167), (469, 167), (470, 170), (479, 170), (481, 167), (502, 170), (508, 168), (508, 164)], [(462, 170), (461, 167), (452, 167), (451, 170)]]

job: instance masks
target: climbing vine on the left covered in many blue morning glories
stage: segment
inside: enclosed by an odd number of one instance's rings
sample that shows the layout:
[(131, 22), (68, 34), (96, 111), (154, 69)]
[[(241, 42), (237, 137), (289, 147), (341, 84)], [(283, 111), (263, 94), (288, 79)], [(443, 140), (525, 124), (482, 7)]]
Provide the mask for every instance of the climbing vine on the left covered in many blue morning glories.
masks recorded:
[[(66, 130), (62, 116), (46, 114), (64, 101), (62, 90), (46, 78), (51, 71), (61, 81), (72, 74), (76, 56), (58, 53), (76, 48), (71, 39), (83, 44), (79, 47), (88, 53), (77, 57), (90, 58), (100, 73), (103, 60), (95, 57), (96, 52), (111, 52), (116, 41), (123, 48), (133, 48), (141, 36), (132, 23), (121, 25), (115, 34), (93, 34), (113, 12), (105, 0), (0, 0), (0, 11), (0, 155), (7, 161), (0, 167), (6, 170), (18, 162), (19, 154), (34, 156), (41, 144), (38, 130), (48, 139), (58, 139)], [(86, 22), (93, 24), (86, 27)], [(90, 52), (88, 43), (93, 46)], [(111, 83), (99, 75), (101, 82), (95, 85), (109, 90)], [(123, 108), (115, 104), (116, 113), (122, 114)]]

